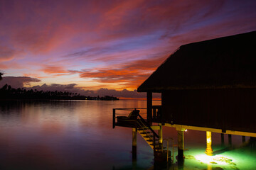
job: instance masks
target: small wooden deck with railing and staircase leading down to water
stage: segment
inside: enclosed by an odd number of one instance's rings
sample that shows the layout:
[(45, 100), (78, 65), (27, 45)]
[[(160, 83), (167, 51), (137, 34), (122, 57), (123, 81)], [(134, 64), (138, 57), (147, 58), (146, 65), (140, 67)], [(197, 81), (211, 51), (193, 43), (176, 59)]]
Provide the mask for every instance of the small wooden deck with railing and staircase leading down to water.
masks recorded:
[[(162, 138), (162, 128), (161, 125), (151, 126), (142, 115), (139, 114), (137, 109), (145, 109), (145, 108), (113, 108), (113, 128), (115, 126), (132, 128), (132, 157), (136, 158), (137, 156), (137, 132), (141, 135), (146, 143), (153, 149), (154, 151), (154, 160), (155, 162), (168, 162), (171, 159), (171, 151), (169, 150), (169, 140), (167, 140), (167, 147), (163, 147), (163, 138)], [(160, 108), (156, 107), (158, 111), (155, 111), (156, 114), (154, 118), (154, 123), (161, 123)], [(116, 111), (132, 111), (128, 116), (119, 115), (116, 117)], [(132, 118), (130, 115), (134, 115)], [(117, 120), (117, 121), (116, 121)], [(157, 121), (156, 121), (157, 120)], [(158, 129), (159, 135), (152, 129)], [(173, 148), (174, 151), (174, 148)], [(174, 156), (174, 154), (173, 154)], [(174, 157), (173, 157), (174, 159)]]

